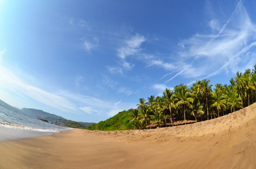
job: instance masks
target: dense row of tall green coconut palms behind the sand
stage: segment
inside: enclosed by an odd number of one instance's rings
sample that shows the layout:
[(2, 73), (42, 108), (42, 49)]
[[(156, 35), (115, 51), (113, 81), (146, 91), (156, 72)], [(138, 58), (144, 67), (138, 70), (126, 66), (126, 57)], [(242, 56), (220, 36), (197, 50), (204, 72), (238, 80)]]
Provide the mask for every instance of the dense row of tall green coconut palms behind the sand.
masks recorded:
[(148, 128), (150, 124), (172, 126), (173, 121), (194, 119), (205, 121), (235, 112), (256, 102), (256, 65), (254, 69), (237, 72), (230, 84), (210, 84), (209, 79), (196, 81), (192, 87), (180, 84), (163, 96), (140, 98), (137, 109), (132, 109), (129, 122), (133, 128)]

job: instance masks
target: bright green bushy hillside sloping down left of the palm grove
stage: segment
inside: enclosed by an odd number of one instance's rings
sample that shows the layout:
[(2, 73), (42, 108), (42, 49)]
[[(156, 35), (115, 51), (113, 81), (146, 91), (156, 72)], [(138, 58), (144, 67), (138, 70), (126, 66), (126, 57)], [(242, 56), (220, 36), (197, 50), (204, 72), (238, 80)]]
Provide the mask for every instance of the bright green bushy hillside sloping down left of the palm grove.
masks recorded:
[(124, 110), (106, 121), (93, 124), (93, 126), (88, 127), (88, 130), (132, 130), (133, 127), (129, 123), (129, 113), (131, 113), (131, 110)]

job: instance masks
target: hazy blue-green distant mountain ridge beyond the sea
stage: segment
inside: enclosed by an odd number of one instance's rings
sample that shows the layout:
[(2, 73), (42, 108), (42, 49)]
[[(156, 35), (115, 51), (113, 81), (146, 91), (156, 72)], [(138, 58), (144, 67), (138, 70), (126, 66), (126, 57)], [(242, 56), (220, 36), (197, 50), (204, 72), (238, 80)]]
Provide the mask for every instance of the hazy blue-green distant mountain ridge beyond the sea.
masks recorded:
[(73, 128), (87, 128), (88, 126), (95, 124), (95, 123), (71, 121), (61, 116), (44, 112), (43, 110), (23, 108), (21, 109), (21, 111), (26, 114), (32, 115), (34, 117), (45, 119), (54, 124), (59, 124), (63, 126), (73, 127)]

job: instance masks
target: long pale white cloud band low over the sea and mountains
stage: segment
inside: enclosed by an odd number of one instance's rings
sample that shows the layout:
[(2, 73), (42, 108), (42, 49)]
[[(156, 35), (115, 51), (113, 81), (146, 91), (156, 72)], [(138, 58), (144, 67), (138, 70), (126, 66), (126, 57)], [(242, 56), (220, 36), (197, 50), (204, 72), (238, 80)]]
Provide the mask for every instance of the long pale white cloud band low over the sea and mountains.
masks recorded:
[[(109, 113), (103, 114), (103, 112), (112, 112), (113, 114), (118, 109), (117, 106), (121, 104), (121, 101), (112, 103), (91, 96), (73, 94), (69, 91), (55, 90), (55, 92), (49, 92), (26, 83), (24, 78), (21, 78), (25, 75), (19, 75), (18, 77), (4, 66), (0, 66), (0, 72), (0, 87), (5, 88), (7, 91), (15, 92), (15, 94), (23, 97), (25, 100), (37, 100), (39, 103), (50, 106), (51, 108), (57, 108), (61, 112), (102, 116), (109, 115)], [(77, 79), (82, 78), (77, 76)], [(110, 79), (106, 83), (115, 85), (115, 82)], [(129, 93), (129, 91), (126, 92)], [(123, 107), (126, 107), (125, 103)]]

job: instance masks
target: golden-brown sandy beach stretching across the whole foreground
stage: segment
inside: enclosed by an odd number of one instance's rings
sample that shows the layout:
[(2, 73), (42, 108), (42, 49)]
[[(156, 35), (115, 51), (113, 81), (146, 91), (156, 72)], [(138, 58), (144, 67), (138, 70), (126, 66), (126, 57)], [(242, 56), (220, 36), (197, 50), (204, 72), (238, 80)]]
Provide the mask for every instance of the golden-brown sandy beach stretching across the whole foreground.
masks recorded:
[(0, 168), (256, 168), (256, 104), (154, 130), (70, 130), (0, 143)]

